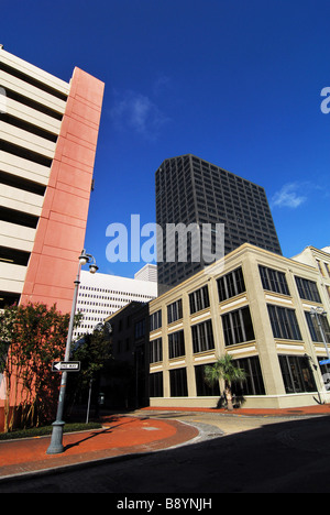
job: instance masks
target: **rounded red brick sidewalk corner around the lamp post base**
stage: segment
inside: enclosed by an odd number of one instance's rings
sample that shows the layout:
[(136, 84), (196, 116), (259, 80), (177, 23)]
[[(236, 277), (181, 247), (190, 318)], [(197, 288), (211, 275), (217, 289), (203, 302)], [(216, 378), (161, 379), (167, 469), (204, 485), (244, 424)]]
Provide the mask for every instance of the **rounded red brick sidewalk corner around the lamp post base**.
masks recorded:
[(62, 454), (46, 454), (51, 437), (0, 441), (0, 480), (106, 458), (167, 449), (189, 441), (198, 434), (198, 429), (176, 420), (111, 416), (103, 419), (103, 429), (64, 435), (65, 452)]

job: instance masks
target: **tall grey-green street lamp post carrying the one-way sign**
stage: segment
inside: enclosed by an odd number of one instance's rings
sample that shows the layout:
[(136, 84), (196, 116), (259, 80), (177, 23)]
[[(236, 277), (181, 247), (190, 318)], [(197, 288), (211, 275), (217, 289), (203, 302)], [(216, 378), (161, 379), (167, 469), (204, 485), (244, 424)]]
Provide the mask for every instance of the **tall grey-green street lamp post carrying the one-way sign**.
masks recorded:
[[(65, 349), (66, 362), (70, 360), (72, 340), (73, 340), (78, 291), (79, 291), (79, 284), (80, 284), (81, 266), (88, 263), (91, 263), (89, 265), (89, 272), (91, 274), (95, 274), (98, 271), (96, 261), (94, 256), (91, 254), (87, 254), (84, 249), (81, 252), (81, 255), (79, 256), (78, 273), (77, 273), (77, 277), (75, 281), (74, 300), (73, 300), (72, 315), (70, 315), (69, 328), (68, 328), (67, 340), (66, 340), (66, 349)], [(63, 412), (64, 412), (64, 401), (65, 401), (65, 392), (66, 392), (66, 384), (67, 384), (67, 374), (68, 373), (66, 371), (64, 371), (62, 374), (56, 420), (53, 424), (52, 440), (47, 449), (47, 454), (61, 454), (64, 451), (63, 430), (64, 430), (65, 423), (63, 421)]]

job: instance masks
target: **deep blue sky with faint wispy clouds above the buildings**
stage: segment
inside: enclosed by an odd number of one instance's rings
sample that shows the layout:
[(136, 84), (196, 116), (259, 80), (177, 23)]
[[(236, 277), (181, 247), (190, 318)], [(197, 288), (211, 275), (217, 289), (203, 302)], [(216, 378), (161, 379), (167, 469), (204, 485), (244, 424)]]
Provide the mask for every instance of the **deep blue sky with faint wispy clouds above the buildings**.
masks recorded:
[(330, 244), (329, 0), (0, 0), (4, 48), (106, 83), (86, 248), (155, 221), (154, 173), (193, 153), (265, 187), (283, 252)]

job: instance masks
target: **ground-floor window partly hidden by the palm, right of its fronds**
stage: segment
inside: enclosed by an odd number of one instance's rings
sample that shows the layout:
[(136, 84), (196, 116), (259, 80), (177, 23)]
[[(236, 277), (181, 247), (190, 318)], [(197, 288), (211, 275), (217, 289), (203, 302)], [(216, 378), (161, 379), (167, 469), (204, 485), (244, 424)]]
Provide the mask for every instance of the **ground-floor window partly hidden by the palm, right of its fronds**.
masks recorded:
[(234, 364), (246, 372), (245, 381), (232, 385), (234, 395), (265, 395), (265, 385), (258, 357), (235, 360)]

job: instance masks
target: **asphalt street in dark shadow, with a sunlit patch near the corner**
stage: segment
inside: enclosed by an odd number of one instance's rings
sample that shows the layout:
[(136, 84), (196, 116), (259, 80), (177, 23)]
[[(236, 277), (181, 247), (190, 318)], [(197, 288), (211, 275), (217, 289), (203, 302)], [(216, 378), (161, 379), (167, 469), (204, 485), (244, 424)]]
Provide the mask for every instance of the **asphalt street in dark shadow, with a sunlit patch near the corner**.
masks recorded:
[[(154, 415), (153, 415), (154, 416)], [(175, 415), (160, 414), (160, 417)], [(180, 448), (0, 482), (0, 493), (329, 493), (330, 417), (183, 415), (205, 437)], [(212, 429), (213, 428), (213, 429)], [(221, 428), (221, 432), (217, 430)]]

